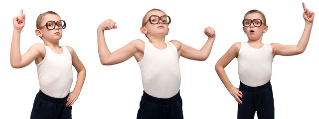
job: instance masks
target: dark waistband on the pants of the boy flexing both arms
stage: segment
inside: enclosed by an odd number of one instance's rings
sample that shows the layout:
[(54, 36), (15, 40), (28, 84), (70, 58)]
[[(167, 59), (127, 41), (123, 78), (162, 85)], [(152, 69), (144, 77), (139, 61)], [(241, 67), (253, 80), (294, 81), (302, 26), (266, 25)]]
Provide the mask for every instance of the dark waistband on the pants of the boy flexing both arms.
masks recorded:
[(159, 104), (159, 105), (169, 105), (172, 103), (175, 103), (176, 101), (178, 101), (180, 99), (180, 95), (179, 95), (179, 91), (176, 95), (174, 95), (173, 97), (170, 98), (157, 98), (157, 97), (153, 97), (149, 94), (147, 94), (145, 91), (143, 91), (143, 96), (142, 98), (144, 98), (145, 100), (151, 102), (151, 103), (155, 103), (155, 104)]

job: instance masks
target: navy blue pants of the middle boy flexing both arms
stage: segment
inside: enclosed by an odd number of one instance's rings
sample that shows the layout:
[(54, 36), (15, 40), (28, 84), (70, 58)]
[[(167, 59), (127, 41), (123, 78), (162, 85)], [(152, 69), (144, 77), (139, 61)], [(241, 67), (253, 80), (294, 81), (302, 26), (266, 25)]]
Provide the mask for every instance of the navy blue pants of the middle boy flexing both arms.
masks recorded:
[(184, 119), (179, 92), (167, 99), (143, 93), (137, 119)]

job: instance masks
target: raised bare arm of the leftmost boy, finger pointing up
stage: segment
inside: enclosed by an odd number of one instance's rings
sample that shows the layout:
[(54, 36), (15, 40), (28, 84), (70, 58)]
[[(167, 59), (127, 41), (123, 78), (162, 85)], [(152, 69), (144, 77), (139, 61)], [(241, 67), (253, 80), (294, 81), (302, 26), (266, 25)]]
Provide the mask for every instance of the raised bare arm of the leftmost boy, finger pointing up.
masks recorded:
[[(38, 58), (41, 54), (41, 48), (43, 50), (43, 45), (34, 44), (29, 48), (29, 50), (21, 56), (20, 53), (20, 35), (21, 30), (25, 24), (25, 15), (22, 14), (21, 10), (18, 16), (13, 17), (13, 36), (11, 41), (11, 51), (10, 51), (10, 63), (13, 68), (22, 68), (29, 65), (33, 60)], [(44, 50), (45, 51), (45, 50)]]

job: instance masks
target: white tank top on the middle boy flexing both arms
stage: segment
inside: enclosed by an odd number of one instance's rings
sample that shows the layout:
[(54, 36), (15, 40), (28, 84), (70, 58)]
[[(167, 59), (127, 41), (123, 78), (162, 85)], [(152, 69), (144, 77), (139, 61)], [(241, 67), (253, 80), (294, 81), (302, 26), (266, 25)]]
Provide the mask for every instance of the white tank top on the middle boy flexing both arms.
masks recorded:
[(179, 58), (176, 47), (166, 43), (159, 50), (150, 42), (145, 43), (144, 57), (139, 61), (144, 91), (157, 98), (170, 98), (180, 87)]

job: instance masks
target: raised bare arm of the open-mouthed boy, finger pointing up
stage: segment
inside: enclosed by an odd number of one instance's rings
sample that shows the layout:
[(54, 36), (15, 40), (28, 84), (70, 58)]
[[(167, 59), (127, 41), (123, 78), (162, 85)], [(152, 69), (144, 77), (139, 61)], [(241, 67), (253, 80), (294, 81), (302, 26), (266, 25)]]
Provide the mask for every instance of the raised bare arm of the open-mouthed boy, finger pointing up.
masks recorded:
[(311, 34), (311, 29), (313, 26), (314, 21), (314, 15), (315, 12), (310, 11), (308, 8), (306, 8), (305, 3), (303, 3), (304, 7), (304, 14), (303, 17), (306, 21), (304, 33), (299, 40), (297, 45), (281, 45), (281, 44), (271, 44), (271, 47), (273, 48), (273, 56), (281, 55), (281, 56), (293, 56), (304, 53), (306, 50), (306, 47), (308, 45), (308, 41)]

